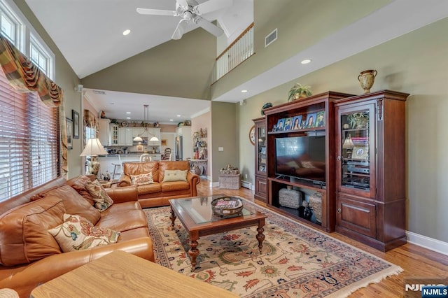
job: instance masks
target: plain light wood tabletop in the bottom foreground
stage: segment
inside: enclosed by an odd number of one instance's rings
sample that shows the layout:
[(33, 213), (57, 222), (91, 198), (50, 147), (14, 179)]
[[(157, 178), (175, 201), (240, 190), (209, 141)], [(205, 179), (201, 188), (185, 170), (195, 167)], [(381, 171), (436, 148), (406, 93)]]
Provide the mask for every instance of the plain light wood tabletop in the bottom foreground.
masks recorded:
[(238, 297), (116, 250), (32, 290), (31, 297)]

